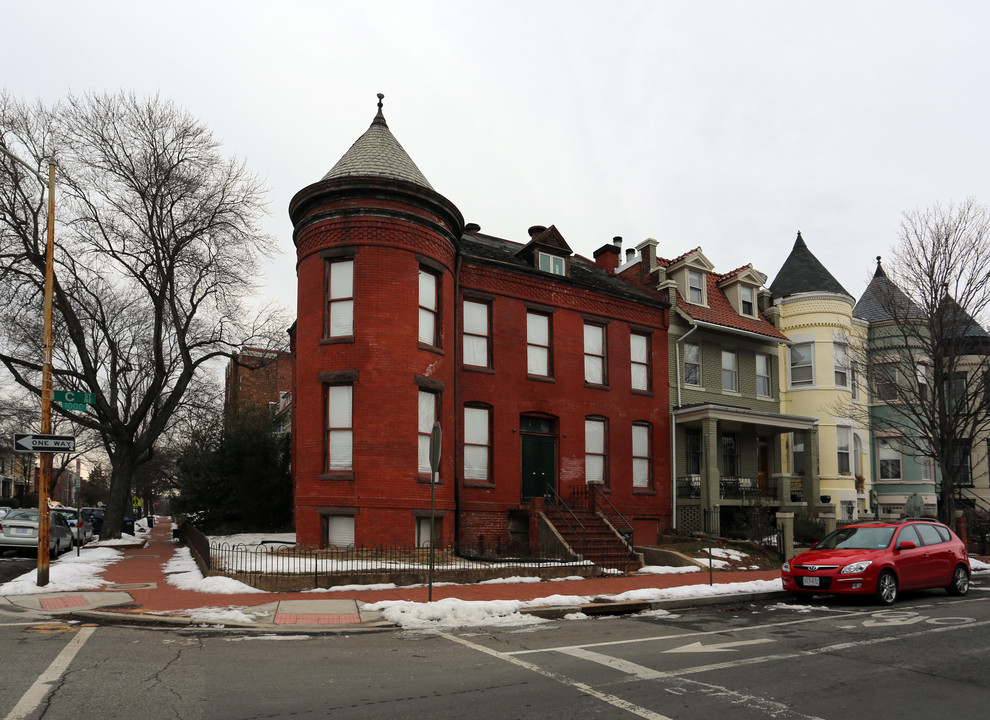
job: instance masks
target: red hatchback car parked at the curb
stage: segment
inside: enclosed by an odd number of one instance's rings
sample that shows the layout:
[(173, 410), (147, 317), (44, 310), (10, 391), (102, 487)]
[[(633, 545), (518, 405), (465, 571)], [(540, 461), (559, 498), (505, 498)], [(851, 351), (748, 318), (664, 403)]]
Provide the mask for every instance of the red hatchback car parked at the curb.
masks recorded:
[(873, 595), (889, 605), (900, 590), (969, 591), (969, 554), (945, 525), (929, 520), (846, 525), (785, 562), (784, 590)]

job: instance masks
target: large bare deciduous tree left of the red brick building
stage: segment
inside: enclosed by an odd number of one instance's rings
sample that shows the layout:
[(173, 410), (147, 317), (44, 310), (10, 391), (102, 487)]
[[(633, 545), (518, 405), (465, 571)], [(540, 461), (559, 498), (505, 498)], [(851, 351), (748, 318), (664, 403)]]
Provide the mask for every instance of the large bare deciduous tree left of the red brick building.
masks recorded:
[[(246, 306), (272, 246), (265, 191), (157, 97), (49, 107), (0, 94), (0, 145), (39, 168), (56, 157), (54, 386), (96, 396), (85, 413), (56, 412), (100, 439), (116, 537), (137, 469), (211, 362), (281, 344), (279, 312)], [(39, 397), (46, 216), (38, 180), (0, 156), (0, 362)]]

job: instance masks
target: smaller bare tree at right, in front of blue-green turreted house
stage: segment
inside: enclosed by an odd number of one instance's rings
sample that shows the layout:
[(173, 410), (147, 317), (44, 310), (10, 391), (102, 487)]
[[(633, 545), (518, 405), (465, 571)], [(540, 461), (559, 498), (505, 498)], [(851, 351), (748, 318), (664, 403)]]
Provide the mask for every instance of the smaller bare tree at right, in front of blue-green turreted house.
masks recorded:
[[(973, 200), (905, 213), (878, 265), (867, 369), (872, 427), (939, 469), (939, 514), (954, 519), (971, 447), (990, 431), (990, 211)], [(881, 468), (882, 469), (882, 468)]]

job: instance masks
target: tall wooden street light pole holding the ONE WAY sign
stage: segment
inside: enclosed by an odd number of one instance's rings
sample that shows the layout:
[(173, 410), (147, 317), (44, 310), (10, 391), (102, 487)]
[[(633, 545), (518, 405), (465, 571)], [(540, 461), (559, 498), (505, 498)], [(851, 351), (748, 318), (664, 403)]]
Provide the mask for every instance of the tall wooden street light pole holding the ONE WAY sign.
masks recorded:
[[(45, 185), (45, 179), (30, 165), (0, 147), (0, 152), (26, 167)], [(41, 433), (52, 432), (52, 296), (55, 285), (55, 158), (48, 158), (48, 234), (45, 241), (45, 318), (41, 345)], [(51, 514), (48, 494), (52, 482), (52, 453), (41, 452), (38, 472), (38, 579), (39, 587), (48, 584), (48, 545), (51, 538)]]

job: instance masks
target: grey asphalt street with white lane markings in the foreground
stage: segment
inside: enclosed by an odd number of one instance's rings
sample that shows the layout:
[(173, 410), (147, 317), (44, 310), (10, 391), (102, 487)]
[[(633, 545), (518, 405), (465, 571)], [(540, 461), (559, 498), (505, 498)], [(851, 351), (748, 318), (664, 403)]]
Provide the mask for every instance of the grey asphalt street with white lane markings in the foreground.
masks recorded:
[(982, 717), (990, 592), (352, 635), (0, 615), (0, 718)]

